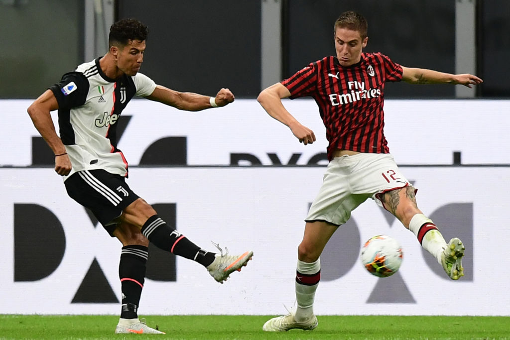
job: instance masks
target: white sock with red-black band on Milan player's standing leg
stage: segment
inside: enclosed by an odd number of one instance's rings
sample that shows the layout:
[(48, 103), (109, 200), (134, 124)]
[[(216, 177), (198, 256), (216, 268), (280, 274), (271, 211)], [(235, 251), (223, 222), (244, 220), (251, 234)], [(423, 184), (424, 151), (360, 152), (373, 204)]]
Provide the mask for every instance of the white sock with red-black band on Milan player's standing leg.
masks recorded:
[(315, 291), (320, 280), (320, 258), (312, 263), (297, 260), (296, 301), (294, 319), (306, 321), (314, 315)]

